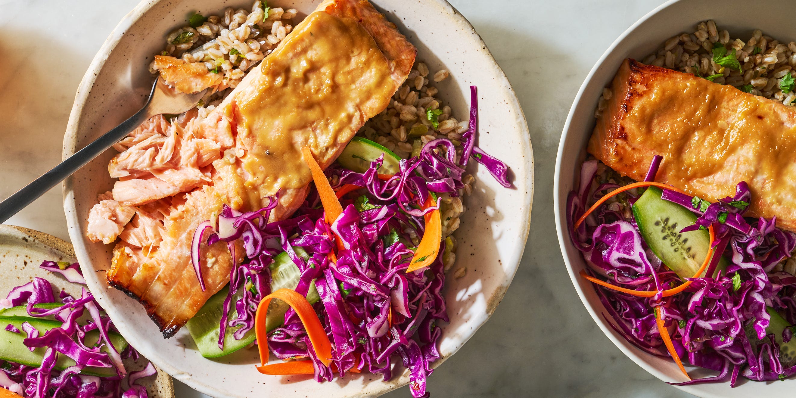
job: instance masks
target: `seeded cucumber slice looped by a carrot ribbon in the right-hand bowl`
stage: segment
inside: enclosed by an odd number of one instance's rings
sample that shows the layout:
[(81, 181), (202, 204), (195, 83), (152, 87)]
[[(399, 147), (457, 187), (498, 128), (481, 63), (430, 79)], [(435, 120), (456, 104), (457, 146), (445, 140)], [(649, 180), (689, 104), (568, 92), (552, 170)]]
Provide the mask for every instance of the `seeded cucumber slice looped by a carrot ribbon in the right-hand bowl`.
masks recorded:
[[(661, 189), (651, 186), (634, 203), (638, 231), (666, 267), (681, 278), (692, 278), (708, 255), (710, 234), (701, 229), (681, 233), (682, 228), (696, 223), (696, 214), (677, 203), (664, 201), (661, 193)], [(727, 259), (720, 259), (716, 271), (724, 270), (727, 264)]]

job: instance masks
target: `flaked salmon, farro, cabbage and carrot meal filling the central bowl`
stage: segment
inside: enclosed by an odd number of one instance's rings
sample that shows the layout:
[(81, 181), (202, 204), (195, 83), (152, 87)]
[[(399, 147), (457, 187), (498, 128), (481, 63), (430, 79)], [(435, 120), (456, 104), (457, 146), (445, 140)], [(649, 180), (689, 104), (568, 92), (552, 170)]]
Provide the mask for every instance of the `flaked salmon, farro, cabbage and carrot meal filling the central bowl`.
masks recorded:
[(455, 119), (437, 97), (450, 73), (368, 2), (299, 19), (258, 1), (166, 36), (150, 72), (205, 96), (119, 142), (88, 236), (117, 242), (108, 283), (204, 357), (256, 344), (260, 373), (318, 381), (389, 380), (400, 357), (427, 396), (444, 281), (466, 273), (465, 167), (509, 187), (507, 167), (475, 145), (476, 88)]

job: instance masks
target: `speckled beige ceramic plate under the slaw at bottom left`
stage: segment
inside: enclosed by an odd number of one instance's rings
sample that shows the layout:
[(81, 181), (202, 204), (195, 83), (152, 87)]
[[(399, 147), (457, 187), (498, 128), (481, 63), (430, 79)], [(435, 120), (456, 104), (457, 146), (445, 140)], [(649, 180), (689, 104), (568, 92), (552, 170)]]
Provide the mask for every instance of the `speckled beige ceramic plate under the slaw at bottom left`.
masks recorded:
[[(0, 294), (5, 297), (11, 289), (24, 285), (35, 277), (49, 280), (56, 289), (63, 289), (68, 294), (80, 296), (81, 287), (70, 283), (53, 272), (45, 271), (39, 265), (45, 261), (67, 261), (74, 263), (75, 250), (71, 244), (55, 236), (33, 229), (0, 224)], [(145, 361), (125, 361), (128, 370), (143, 368)], [(166, 372), (158, 369), (158, 376), (146, 377), (142, 380), (146, 392), (153, 398), (174, 398), (174, 384)]]

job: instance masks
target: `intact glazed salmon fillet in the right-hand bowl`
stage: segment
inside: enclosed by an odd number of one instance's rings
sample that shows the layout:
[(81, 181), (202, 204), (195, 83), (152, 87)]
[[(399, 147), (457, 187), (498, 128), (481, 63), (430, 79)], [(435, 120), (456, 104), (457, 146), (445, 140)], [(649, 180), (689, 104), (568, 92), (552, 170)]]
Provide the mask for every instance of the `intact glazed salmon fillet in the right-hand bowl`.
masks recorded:
[(777, 217), (796, 231), (796, 109), (701, 77), (625, 60), (611, 86), (588, 152), (642, 181), (663, 156), (655, 181), (718, 201), (747, 181), (747, 215)]

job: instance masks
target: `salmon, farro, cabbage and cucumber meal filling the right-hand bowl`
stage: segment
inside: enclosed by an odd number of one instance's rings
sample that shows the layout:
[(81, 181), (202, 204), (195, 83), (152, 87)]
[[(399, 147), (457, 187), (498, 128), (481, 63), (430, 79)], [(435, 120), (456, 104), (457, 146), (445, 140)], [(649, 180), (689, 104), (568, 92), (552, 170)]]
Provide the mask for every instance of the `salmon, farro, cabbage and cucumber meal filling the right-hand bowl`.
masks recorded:
[(794, 50), (705, 21), (625, 60), (599, 99), (567, 205), (580, 275), (677, 385), (796, 373)]

